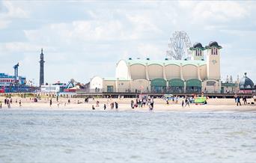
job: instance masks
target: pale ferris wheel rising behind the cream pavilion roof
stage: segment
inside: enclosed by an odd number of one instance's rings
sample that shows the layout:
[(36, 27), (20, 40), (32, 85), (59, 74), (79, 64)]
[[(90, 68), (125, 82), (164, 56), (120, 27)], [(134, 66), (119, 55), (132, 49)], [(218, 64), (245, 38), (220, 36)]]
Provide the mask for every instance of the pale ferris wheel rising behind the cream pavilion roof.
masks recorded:
[(191, 57), (191, 42), (185, 31), (175, 31), (170, 37), (166, 57), (171, 60), (183, 60)]

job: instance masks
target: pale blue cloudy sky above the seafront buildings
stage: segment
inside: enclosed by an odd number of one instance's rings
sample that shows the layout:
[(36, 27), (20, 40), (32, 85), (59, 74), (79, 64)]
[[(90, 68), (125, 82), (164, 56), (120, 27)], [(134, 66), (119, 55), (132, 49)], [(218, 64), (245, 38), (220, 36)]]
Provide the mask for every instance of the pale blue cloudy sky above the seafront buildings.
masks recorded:
[(174, 31), (222, 46), (221, 72), (256, 83), (256, 1), (0, 1), (0, 72), (39, 83), (114, 77), (121, 59), (163, 60)]

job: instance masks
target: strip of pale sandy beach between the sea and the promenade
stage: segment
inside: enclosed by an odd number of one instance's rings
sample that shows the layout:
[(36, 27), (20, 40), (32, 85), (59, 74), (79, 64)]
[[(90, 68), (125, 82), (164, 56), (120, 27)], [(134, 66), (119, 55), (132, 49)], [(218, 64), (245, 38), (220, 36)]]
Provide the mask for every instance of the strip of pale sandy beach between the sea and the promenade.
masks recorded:
[[(22, 102), (22, 106), (19, 107), (19, 100)], [(1, 109), (33, 109), (33, 110), (81, 110), (81, 111), (91, 111), (92, 105), (95, 107), (95, 111), (104, 111), (103, 105), (106, 104), (107, 111), (115, 111), (116, 109), (110, 108), (111, 102), (118, 102), (118, 111), (148, 111), (149, 108), (147, 105), (142, 108), (130, 107), (131, 100), (135, 99), (89, 99), (89, 102), (84, 102), (85, 99), (76, 98), (70, 99), (70, 104), (68, 104), (67, 98), (60, 98), (58, 102), (56, 99), (52, 99), (52, 106), (49, 105), (49, 98), (43, 98), (38, 102), (34, 102), (32, 98), (20, 98), (12, 97), (12, 104), (10, 108), (7, 108), (7, 105), (4, 105), (4, 97), (0, 97), (2, 102)], [(99, 106), (96, 107), (96, 102), (100, 102)], [(253, 99), (247, 99), (247, 102), (253, 102)], [(173, 103), (169, 102), (169, 105), (166, 104), (163, 99), (154, 99), (154, 108), (153, 111), (256, 111), (256, 105), (242, 105), (237, 106), (234, 102), (234, 99), (208, 99), (207, 105), (195, 105), (193, 103), (190, 106), (182, 108), (181, 100), (179, 102)]]

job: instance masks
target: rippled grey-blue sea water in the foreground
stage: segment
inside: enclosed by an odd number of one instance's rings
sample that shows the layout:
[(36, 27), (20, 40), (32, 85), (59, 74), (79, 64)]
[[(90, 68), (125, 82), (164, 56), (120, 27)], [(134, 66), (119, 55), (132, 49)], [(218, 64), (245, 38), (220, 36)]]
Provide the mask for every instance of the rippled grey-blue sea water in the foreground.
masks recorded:
[(0, 110), (0, 162), (256, 162), (256, 112)]

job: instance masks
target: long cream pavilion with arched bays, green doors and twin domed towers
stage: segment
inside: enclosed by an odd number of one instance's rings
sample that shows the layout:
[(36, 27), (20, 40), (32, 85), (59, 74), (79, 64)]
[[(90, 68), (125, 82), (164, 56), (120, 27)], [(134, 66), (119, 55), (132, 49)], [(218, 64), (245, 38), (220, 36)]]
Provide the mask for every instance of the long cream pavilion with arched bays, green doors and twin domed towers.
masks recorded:
[(217, 42), (190, 48), (191, 60), (151, 61), (132, 59), (118, 61), (115, 78), (91, 79), (90, 89), (103, 92), (137, 93), (220, 93), (220, 49)]

